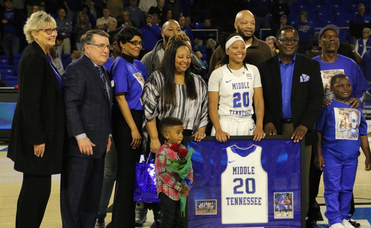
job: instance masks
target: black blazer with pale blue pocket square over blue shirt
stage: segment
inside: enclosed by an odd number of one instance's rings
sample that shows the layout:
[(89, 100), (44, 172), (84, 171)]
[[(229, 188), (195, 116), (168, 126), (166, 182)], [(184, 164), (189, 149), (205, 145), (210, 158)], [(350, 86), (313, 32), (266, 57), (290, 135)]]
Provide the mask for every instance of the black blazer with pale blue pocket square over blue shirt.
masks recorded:
[[(281, 134), (282, 84), (278, 55), (258, 65), (264, 96), (263, 125), (272, 122), (277, 133)], [(300, 76), (310, 77), (307, 82), (300, 82)], [(322, 108), (324, 91), (319, 62), (297, 54), (292, 75), (291, 114), (294, 128), (304, 125), (308, 128), (305, 145), (318, 141), (315, 123)]]

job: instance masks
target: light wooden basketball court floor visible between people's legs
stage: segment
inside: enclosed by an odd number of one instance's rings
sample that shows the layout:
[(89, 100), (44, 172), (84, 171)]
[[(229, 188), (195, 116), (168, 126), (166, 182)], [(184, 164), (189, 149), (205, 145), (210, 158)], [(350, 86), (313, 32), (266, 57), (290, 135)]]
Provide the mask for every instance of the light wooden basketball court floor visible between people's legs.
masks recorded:
[[(14, 171), (13, 162), (6, 157), (7, 146), (0, 146), (0, 227), (14, 227), (16, 204), (22, 185), (22, 173)], [(354, 185), (355, 214), (353, 218), (361, 223), (361, 228), (371, 228), (371, 171), (365, 171), (364, 155), (358, 159), (358, 170)], [(60, 228), (62, 221), (59, 208), (60, 175), (52, 176), (52, 192), (46, 207), (42, 228)], [(328, 228), (328, 221), (324, 215), (324, 188), (321, 180), (317, 201), (321, 206), (324, 221), (318, 221), (316, 227)], [(110, 205), (113, 202), (111, 197)], [(111, 213), (107, 214), (106, 224), (111, 221)], [(152, 211), (148, 211), (145, 228), (154, 228)]]

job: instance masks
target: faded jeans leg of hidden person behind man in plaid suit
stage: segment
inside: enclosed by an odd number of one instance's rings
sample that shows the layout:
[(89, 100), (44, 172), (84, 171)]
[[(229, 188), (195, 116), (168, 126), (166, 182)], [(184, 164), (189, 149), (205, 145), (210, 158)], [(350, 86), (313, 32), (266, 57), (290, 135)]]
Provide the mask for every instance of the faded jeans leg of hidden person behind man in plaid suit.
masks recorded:
[(116, 180), (116, 169), (116, 151), (114, 142), (112, 140), (111, 151), (106, 153), (104, 162), (103, 188), (97, 218), (105, 218), (107, 215), (109, 200), (111, 199), (112, 190)]

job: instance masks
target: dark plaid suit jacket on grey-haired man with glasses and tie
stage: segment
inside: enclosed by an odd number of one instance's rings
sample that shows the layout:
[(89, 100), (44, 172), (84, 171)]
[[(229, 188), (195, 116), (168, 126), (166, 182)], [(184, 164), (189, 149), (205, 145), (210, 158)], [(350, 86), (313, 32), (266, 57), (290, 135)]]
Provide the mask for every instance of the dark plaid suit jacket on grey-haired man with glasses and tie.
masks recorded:
[[(112, 134), (113, 93), (109, 72), (107, 68), (103, 69), (108, 82), (109, 99), (98, 70), (85, 54), (68, 65), (62, 75), (68, 132), (65, 154), (68, 156), (98, 158), (105, 155), (108, 137)], [(80, 152), (75, 136), (82, 133), (86, 133), (95, 144), (92, 155)]]

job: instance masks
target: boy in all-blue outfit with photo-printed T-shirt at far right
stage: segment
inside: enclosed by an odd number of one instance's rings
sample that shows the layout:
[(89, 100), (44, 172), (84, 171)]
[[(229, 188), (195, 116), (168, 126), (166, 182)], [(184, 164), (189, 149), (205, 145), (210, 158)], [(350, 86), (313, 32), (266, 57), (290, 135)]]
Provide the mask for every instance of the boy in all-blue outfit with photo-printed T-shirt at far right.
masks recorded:
[(316, 167), (324, 171), (325, 216), (330, 228), (352, 228), (348, 222), (359, 147), (365, 154), (365, 170), (371, 169), (367, 123), (360, 108), (347, 105), (352, 87), (347, 75), (331, 78), (331, 105), (322, 108), (316, 124), (319, 141)]

